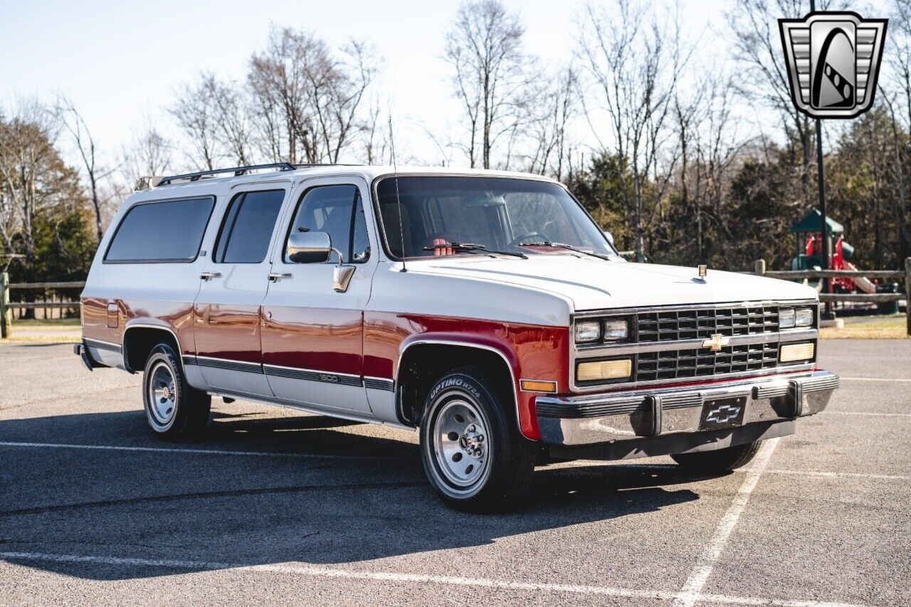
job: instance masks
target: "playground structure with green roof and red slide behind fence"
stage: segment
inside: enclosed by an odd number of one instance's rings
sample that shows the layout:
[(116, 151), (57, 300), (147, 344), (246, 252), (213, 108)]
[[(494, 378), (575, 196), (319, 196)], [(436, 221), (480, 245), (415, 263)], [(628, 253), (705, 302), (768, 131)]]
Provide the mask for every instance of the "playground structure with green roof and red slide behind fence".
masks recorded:
[[(831, 217), (825, 218), (829, 232), (829, 263), (828, 269), (834, 271), (849, 271), (859, 273), (860, 270), (854, 263), (848, 261), (855, 249), (844, 242), (844, 226)], [(819, 233), (820, 214), (815, 209), (804, 215), (804, 218), (791, 226), (797, 245), (797, 256), (791, 261), (793, 271), (819, 271), (826, 267), (823, 262), (822, 234)], [(832, 242), (834, 239), (834, 242)], [(824, 290), (825, 281), (804, 279), (804, 283), (814, 286), (820, 293)], [(863, 275), (840, 276), (829, 279), (828, 293), (879, 293), (877, 283)]]

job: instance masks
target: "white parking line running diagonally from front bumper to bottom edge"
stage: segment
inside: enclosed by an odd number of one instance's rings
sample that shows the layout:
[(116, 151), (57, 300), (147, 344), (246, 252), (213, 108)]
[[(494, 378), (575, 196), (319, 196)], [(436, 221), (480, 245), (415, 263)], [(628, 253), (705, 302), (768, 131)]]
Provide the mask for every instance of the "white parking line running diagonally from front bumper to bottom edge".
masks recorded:
[(709, 581), (715, 562), (722, 556), (724, 545), (728, 542), (728, 538), (731, 537), (734, 527), (737, 526), (737, 521), (740, 520), (743, 509), (746, 508), (746, 504), (750, 500), (752, 490), (756, 488), (756, 483), (763, 476), (763, 470), (768, 467), (769, 460), (772, 458), (772, 453), (778, 445), (778, 441), (778, 438), (768, 440), (759, 449), (752, 466), (746, 472), (746, 478), (743, 479), (740, 489), (737, 490), (737, 495), (734, 497), (731, 507), (724, 513), (721, 522), (718, 523), (718, 527), (715, 528), (715, 532), (711, 536), (711, 540), (709, 540), (709, 544), (702, 551), (699, 561), (697, 561), (696, 566), (691, 571), (690, 577), (683, 584), (681, 592), (677, 594), (673, 603), (675, 607), (692, 607), (697, 601), (701, 600), (705, 582)]

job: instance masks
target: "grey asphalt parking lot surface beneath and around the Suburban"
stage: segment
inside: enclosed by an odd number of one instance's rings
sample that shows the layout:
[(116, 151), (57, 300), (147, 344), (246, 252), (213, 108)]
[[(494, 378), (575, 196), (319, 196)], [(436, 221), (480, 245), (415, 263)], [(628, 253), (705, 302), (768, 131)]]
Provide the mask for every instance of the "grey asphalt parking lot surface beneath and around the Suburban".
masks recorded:
[(162, 443), (139, 376), (0, 345), (0, 604), (908, 604), (911, 340), (820, 350), (842, 387), (749, 468), (558, 464), (478, 516), (414, 433), (216, 400)]

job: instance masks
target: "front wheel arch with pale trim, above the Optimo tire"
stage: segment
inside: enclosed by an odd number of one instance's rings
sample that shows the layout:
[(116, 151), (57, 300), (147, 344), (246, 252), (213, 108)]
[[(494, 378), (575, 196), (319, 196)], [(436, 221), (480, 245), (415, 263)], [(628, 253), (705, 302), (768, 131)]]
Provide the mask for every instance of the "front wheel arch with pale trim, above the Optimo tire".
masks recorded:
[[(479, 362), (478, 355), (481, 360)], [(406, 426), (417, 426), (417, 414), (424, 406), (422, 393), (429, 390), (435, 379), (446, 369), (464, 365), (494, 364), (495, 377), (505, 380), (505, 393), (512, 401), (511, 410), (519, 424), (517, 395), (517, 358), (504, 346), (470, 342), (455, 337), (420, 337), (406, 340), (399, 350), (395, 365), (395, 414)], [(415, 372), (416, 371), (416, 372)]]

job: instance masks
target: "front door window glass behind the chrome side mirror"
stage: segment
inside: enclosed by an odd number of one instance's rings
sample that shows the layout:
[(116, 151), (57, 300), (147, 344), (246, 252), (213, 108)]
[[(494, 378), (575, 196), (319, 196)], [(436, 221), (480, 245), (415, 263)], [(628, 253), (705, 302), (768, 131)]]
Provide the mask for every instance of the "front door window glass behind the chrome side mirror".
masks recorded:
[(305, 191), (298, 202), (291, 231), (328, 233), (333, 247), (342, 252), (344, 263), (363, 263), (370, 259), (367, 221), (357, 186), (319, 186)]

